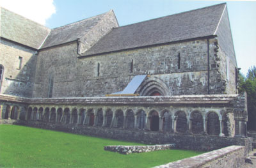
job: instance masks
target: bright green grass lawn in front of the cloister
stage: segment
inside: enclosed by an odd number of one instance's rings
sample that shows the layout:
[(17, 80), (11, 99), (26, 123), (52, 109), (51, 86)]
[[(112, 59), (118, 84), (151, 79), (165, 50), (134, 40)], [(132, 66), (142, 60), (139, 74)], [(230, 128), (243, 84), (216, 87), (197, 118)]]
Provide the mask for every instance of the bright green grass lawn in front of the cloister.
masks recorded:
[[(17, 125), (0, 125), (0, 167), (153, 167), (203, 152), (170, 149), (122, 155), (106, 145), (138, 145)], [(139, 144), (141, 145), (141, 144)]]

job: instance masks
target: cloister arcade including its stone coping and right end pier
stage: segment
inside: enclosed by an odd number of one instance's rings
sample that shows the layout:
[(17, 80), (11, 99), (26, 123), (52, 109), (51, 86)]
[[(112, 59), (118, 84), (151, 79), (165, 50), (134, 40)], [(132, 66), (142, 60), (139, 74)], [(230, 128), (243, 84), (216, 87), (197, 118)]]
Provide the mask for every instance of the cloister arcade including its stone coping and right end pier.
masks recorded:
[(0, 102), (0, 117), (72, 128), (100, 126), (172, 134), (246, 136), (244, 96), (218, 96), (22, 100), (26, 103), (13, 99)]

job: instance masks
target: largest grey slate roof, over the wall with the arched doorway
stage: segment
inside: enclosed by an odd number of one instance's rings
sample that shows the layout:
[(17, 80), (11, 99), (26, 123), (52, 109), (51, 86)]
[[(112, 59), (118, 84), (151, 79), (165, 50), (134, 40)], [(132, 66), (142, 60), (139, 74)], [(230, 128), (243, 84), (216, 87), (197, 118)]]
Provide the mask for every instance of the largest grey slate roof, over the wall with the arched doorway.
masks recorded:
[(216, 4), (113, 29), (84, 56), (214, 35), (226, 4)]

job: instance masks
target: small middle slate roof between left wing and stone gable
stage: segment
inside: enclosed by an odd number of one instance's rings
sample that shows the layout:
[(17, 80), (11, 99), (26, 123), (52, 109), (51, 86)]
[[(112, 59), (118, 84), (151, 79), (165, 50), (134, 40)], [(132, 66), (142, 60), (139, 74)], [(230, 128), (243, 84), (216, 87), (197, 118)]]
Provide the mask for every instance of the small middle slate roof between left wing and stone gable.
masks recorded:
[(42, 49), (77, 40), (77, 38), (80, 38), (90, 31), (105, 14), (106, 13), (103, 13), (95, 17), (90, 17), (88, 19), (52, 29), (51, 33), (45, 40), (44, 45), (42, 45)]

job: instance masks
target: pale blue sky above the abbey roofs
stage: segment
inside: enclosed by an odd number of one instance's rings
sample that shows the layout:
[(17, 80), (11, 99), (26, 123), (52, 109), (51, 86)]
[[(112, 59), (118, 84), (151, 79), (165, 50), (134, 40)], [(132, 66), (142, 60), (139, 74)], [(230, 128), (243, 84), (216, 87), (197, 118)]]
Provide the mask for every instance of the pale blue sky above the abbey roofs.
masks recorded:
[[(24, 1), (22, 0), (23, 4)], [(33, 2), (35, 1), (39, 0), (33, 0)], [(237, 65), (245, 75), (250, 66), (256, 66), (256, 1), (53, 0), (55, 11), (48, 17), (49, 19), (45, 19), (44, 24), (49, 28), (60, 27), (114, 10), (118, 23), (120, 26), (124, 26), (225, 2), (232, 29)], [(31, 8), (39, 9), (38, 6), (31, 6)], [(19, 10), (22, 10), (22, 7), (19, 6)], [(28, 10), (26, 9), (26, 11)], [(46, 11), (40, 11), (40, 15)]]

